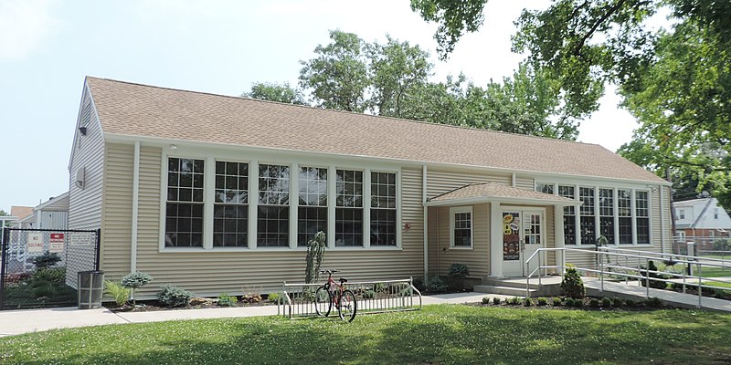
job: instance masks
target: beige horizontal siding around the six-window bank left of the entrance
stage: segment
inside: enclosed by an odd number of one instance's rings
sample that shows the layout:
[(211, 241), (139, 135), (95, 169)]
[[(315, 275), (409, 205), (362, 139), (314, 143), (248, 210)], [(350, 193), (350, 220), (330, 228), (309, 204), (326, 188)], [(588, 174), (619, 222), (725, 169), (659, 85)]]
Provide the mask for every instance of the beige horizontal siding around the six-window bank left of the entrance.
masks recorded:
[[(129, 227), (132, 202), (132, 145), (109, 147), (110, 180), (105, 209), (109, 214), (104, 257), (108, 277), (119, 278), (129, 270)], [(163, 284), (184, 287), (198, 296), (221, 292), (241, 294), (256, 290), (267, 293), (281, 290), (283, 281), (298, 283), (304, 276), (306, 252), (303, 249), (220, 251), (160, 251), (161, 241), (161, 166), (162, 150), (142, 146), (140, 161), (140, 201), (137, 269), (154, 277), (140, 290), (140, 297), (152, 297)], [(421, 170), (402, 169), (402, 247), (401, 249), (329, 249), (323, 267), (337, 268), (349, 280), (406, 278), (423, 275), (423, 210)], [(111, 197), (114, 197), (113, 199)], [(404, 229), (403, 224), (411, 224)], [(119, 229), (112, 230), (112, 227)], [(113, 238), (111, 238), (113, 236)]]

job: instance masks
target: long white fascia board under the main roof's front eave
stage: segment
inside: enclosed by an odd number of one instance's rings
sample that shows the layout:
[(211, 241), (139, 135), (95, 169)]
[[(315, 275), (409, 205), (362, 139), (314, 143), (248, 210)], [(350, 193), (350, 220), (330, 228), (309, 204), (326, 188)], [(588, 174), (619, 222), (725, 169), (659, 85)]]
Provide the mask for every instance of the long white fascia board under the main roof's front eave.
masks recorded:
[[(601, 182), (599, 184), (626, 183), (631, 186), (638, 186), (638, 185), (671, 186), (671, 185), (673, 185), (672, 183), (668, 183), (668, 182), (631, 180), (631, 179), (609, 178), (609, 177), (603, 177), (603, 176), (590, 176), (590, 175), (577, 175), (577, 174), (558, 173), (558, 172), (535, 172), (535, 171), (530, 171), (530, 170), (506, 169), (506, 168), (502, 168), (502, 167), (480, 166), (480, 165), (471, 165), (471, 164), (463, 164), (463, 163), (429, 162), (429, 161), (421, 161), (421, 160), (374, 157), (374, 156), (365, 156), (365, 155), (356, 155), (356, 154), (347, 154), (347, 153), (334, 153), (334, 152), (299, 151), (299, 150), (291, 150), (291, 149), (281, 149), (281, 148), (277, 148), (277, 147), (251, 146), (251, 145), (208, 142), (208, 141), (175, 140), (175, 139), (167, 139), (167, 138), (160, 138), (160, 137), (132, 136), (132, 135), (116, 134), (116, 133), (104, 133), (104, 137), (105, 137), (106, 141), (127, 142), (127, 143), (132, 143), (134, 141), (141, 141), (145, 145), (156, 145), (156, 146), (163, 147), (163, 148), (167, 145), (175, 144), (178, 147), (190, 146), (190, 147), (196, 147), (196, 148), (235, 148), (235, 149), (238, 149), (239, 151), (281, 151), (282, 153), (291, 153), (291, 154), (297, 154), (300, 156), (302, 156), (302, 155), (323, 156), (323, 157), (327, 157), (327, 158), (331, 158), (331, 159), (333, 157), (339, 157), (339, 158), (343, 158), (343, 159), (360, 159), (360, 160), (373, 161), (373, 162), (379, 162), (379, 163), (395, 163), (400, 166), (408, 166), (408, 167), (414, 167), (414, 168), (421, 168), (423, 165), (427, 165), (429, 168), (438, 167), (438, 168), (443, 168), (443, 169), (471, 170), (474, 172), (516, 173), (519, 176), (529, 176), (534, 179), (540, 179), (542, 177), (546, 177), (546, 179), (551, 180), (551, 181), (549, 181), (549, 183), (553, 182), (553, 181), (565, 182), (566, 180), (570, 180), (570, 181), (584, 182), (584, 183), (591, 182), (591, 184), (596, 184), (597, 182)], [(648, 172), (648, 173), (650, 173), (650, 172)], [(572, 179), (575, 179), (575, 180), (572, 180)]]

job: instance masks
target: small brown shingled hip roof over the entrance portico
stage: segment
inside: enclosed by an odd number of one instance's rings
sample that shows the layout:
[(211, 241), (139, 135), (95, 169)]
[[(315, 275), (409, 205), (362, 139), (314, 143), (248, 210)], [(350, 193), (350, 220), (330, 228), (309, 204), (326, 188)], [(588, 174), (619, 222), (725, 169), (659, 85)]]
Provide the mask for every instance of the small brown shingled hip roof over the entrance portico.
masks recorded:
[(471, 183), (435, 196), (424, 205), (458, 205), (476, 203), (521, 203), (535, 205), (581, 205), (580, 201), (563, 196), (538, 193), (499, 183)]

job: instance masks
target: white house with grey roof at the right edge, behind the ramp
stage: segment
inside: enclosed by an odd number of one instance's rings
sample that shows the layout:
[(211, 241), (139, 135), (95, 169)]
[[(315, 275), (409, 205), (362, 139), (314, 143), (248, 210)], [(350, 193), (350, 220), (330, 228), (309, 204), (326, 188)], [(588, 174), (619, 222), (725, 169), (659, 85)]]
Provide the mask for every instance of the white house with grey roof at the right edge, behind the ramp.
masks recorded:
[(675, 241), (694, 242), (699, 250), (712, 250), (718, 239), (731, 237), (731, 217), (715, 198), (673, 202)]

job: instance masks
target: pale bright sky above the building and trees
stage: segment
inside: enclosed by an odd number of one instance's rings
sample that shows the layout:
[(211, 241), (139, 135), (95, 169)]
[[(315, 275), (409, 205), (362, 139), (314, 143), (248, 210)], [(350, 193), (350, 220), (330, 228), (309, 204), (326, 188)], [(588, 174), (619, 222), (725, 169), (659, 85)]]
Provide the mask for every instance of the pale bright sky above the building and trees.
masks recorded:
[[(253, 82), (296, 85), (300, 60), (328, 30), (386, 35), (432, 55), (435, 80), (463, 72), (478, 86), (512, 75), (513, 24), (546, 0), (490, 1), (479, 33), (438, 60), (435, 24), (408, 0), (0, 0), (0, 209), (69, 190), (69, 156), (85, 76), (238, 96)], [(616, 151), (636, 120), (609, 88), (578, 141)]]

